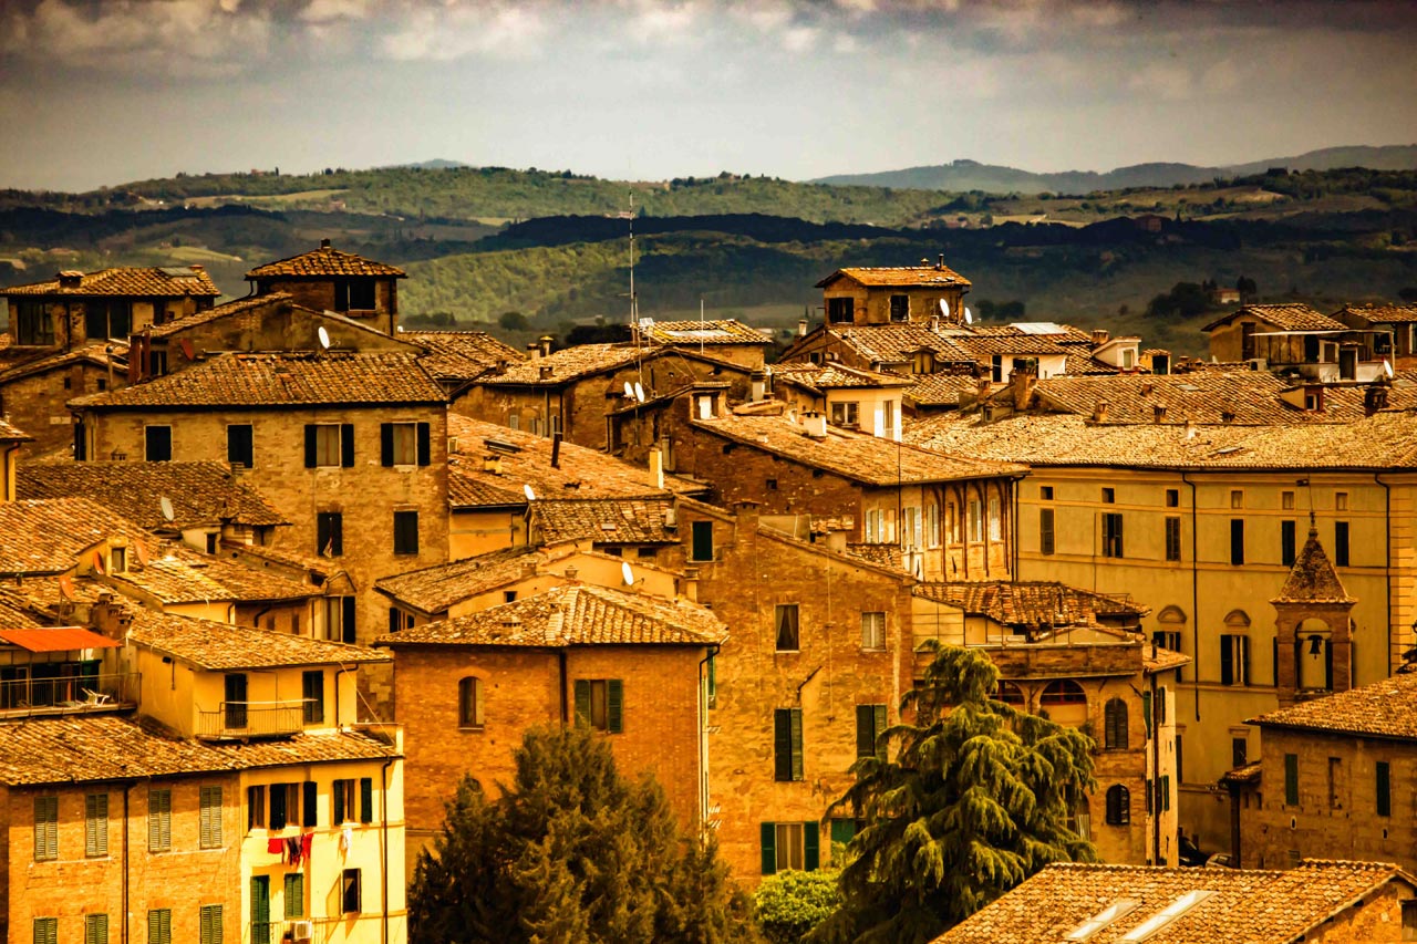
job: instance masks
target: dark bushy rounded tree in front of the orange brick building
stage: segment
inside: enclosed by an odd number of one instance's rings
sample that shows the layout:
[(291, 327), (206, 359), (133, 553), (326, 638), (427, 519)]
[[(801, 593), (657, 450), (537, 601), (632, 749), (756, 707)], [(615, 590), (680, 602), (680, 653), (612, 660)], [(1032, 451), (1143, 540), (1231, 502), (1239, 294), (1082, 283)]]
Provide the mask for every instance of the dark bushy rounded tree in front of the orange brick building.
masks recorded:
[(408, 892), (429, 944), (752, 941), (745, 894), (710, 838), (684, 836), (653, 778), (626, 781), (585, 726), (529, 731), (489, 801), (470, 777)]

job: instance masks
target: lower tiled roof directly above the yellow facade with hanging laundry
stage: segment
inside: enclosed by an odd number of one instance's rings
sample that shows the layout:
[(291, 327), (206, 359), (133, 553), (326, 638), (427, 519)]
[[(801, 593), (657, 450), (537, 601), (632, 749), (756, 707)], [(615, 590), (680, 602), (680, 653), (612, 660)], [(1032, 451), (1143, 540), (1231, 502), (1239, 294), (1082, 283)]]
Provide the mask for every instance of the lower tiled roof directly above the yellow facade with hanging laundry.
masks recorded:
[(69, 714), (0, 724), (0, 782), (10, 787), (146, 780), (336, 760), (398, 757), (361, 731), (296, 734), (251, 744), (207, 744), (154, 721)]

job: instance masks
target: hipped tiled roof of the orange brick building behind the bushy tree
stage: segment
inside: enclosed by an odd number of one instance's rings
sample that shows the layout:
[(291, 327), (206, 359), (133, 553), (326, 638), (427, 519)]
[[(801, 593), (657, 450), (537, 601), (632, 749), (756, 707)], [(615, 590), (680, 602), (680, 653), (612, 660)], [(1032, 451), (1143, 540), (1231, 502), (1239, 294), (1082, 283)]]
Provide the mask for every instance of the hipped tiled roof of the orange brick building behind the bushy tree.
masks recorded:
[(713, 645), (727, 628), (687, 601), (587, 584), (554, 587), (456, 619), (380, 636), (376, 645)]

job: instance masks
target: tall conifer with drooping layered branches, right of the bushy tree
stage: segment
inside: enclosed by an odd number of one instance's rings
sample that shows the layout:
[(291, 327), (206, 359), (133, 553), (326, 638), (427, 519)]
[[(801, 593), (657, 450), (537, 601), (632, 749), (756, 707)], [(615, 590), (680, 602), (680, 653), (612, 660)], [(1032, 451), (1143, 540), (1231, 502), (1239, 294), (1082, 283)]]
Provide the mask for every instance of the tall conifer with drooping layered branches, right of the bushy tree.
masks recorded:
[(1094, 858), (1071, 828), (1073, 798), (1094, 785), (1093, 740), (995, 700), (999, 670), (976, 649), (932, 648), (904, 699), (915, 723), (887, 729), (833, 805), (866, 825), (843, 904), (812, 943), (928, 941), (1047, 863)]

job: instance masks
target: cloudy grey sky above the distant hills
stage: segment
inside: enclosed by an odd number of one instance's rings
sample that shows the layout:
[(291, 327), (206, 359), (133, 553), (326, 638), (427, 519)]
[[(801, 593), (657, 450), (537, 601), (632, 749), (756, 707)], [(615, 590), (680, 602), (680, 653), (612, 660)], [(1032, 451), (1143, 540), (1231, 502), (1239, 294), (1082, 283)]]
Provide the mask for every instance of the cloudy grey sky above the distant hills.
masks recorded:
[(1238, 163), (1417, 140), (1414, 40), (1410, 0), (0, 0), (0, 187)]

